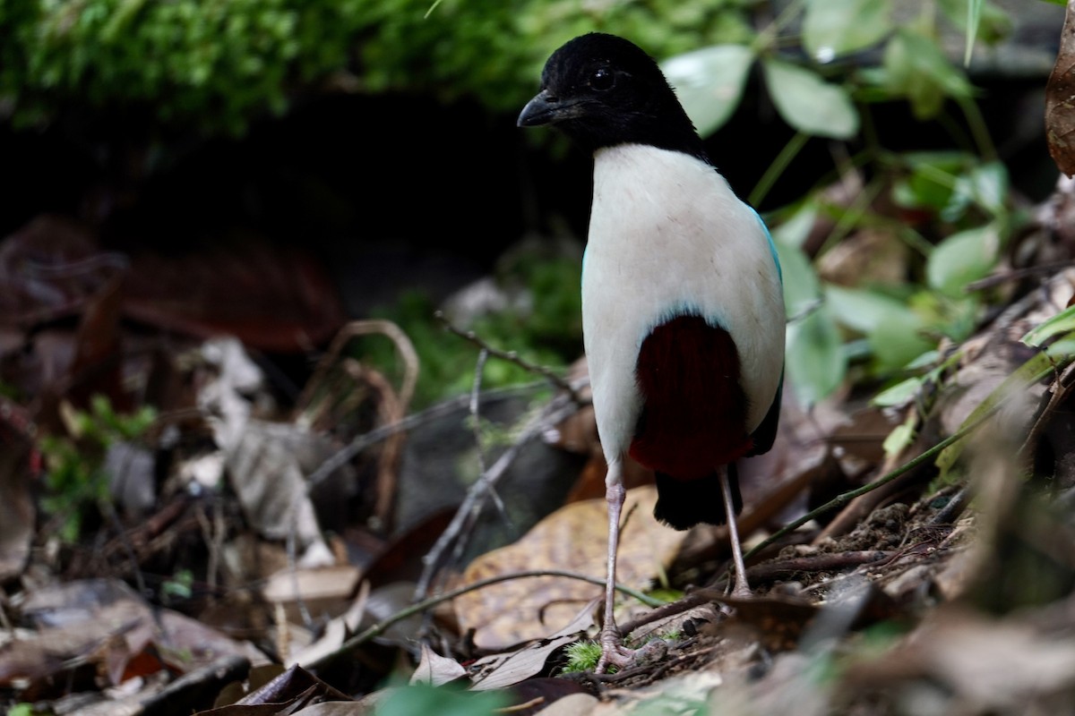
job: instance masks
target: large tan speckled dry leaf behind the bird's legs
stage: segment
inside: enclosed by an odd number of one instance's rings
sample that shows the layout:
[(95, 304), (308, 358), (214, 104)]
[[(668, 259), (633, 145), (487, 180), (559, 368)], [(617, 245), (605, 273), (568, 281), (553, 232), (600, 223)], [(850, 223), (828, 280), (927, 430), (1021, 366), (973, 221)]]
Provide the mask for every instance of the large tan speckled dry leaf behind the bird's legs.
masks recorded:
[[(658, 523), (657, 489), (651, 485), (627, 493), (632, 511), (619, 544), (618, 580), (644, 588), (675, 556), (686, 532)], [(475, 559), (463, 583), (526, 570), (567, 570), (604, 579), (607, 507), (603, 499), (574, 502), (545, 517), (515, 544)], [(462, 630), (475, 629), (482, 648), (503, 648), (545, 637), (577, 614), (602, 587), (561, 576), (512, 580), (471, 591), (455, 600)]]

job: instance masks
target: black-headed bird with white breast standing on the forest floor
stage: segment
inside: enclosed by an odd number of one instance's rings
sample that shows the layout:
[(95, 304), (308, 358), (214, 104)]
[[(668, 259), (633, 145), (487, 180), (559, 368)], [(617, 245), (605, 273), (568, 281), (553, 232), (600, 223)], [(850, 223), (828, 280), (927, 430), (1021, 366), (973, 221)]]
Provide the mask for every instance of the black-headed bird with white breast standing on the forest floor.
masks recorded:
[(590, 32), (545, 62), (519, 127), (551, 126), (593, 158), (583, 344), (607, 463), (607, 579), (597, 671), (624, 667), (613, 614), (628, 456), (654, 470), (655, 516), (728, 524), (737, 597), (750, 595), (735, 463), (769, 451), (786, 316), (773, 238), (736, 196), (657, 61)]

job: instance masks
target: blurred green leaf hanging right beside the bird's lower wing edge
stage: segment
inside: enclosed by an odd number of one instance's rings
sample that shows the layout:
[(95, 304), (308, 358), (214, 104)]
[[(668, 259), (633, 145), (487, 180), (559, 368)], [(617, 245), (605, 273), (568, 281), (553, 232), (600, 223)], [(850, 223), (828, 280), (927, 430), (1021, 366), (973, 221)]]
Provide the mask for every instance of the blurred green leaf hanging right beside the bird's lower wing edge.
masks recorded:
[(788, 323), (787, 371), (800, 404), (809, 407), (836, 390), (847, 372), (840, 328), (828, 307)]

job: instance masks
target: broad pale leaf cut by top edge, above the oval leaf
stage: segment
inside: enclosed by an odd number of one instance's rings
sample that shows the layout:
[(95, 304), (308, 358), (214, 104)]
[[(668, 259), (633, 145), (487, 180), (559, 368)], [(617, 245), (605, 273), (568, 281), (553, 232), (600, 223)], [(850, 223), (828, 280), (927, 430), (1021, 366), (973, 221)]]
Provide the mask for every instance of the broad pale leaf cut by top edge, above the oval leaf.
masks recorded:
[(880, 42), (892, 29), (890, 0), (807, 0), (803, 47), (819, 62)]

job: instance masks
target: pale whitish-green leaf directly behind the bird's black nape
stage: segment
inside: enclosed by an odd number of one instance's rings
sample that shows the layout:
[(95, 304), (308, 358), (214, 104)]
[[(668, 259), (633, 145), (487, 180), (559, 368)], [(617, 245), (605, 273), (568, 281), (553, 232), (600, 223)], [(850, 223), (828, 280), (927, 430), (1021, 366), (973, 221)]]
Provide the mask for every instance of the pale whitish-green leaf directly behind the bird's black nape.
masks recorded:
[(702, 136), (720, 129), (743, 98), (754, 50), (746, 45), (715, 45), (661, 62), (679, 103)]

